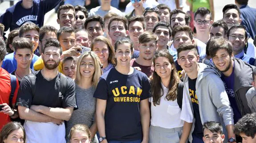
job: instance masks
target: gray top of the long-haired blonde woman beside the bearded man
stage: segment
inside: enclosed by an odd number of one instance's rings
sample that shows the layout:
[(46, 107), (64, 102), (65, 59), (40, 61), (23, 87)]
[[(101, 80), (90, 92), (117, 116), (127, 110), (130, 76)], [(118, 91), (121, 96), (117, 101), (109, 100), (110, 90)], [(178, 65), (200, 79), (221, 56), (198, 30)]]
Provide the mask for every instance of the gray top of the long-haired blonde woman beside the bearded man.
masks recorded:
[[(93, 97), (94, 91), (93, 86), (89, 89), (82, 89), (76, 84), (78, 109), (73, 111), (70, 120), (67, 122), (66, 137), (75, 124), (85, 124), (89, 128), (92, 126), (96, 109), (96, 98)], [(91, 143), (98, 143), (98, 139), (94, 139)]]

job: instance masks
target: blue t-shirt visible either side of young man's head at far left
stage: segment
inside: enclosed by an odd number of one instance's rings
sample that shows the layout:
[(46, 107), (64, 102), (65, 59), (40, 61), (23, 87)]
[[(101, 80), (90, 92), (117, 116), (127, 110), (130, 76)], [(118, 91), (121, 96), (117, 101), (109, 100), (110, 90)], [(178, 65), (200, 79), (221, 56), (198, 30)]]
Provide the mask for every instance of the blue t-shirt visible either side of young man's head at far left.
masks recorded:
[[(30, 69), (34, 70), (34, 63), (37, 61), (39, 57), (37, 55), (33, 55)], [(14, 58), (14, 53), (8, 54), (4, 57), (3, 64), (1, 66), (4, 70), (8, 71), (8, 73), (12, 73), (14, 70), (17, 69), (17, 61)]]

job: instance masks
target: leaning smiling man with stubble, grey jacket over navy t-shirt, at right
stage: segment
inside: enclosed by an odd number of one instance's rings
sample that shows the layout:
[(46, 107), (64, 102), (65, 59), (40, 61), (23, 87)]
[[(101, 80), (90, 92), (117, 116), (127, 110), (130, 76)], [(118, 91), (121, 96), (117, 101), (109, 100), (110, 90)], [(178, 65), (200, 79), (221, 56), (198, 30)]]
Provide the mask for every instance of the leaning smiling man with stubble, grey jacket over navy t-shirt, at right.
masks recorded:
[[(234, 123), (247, 113), (251, 113), (245, 94), (252, 87), (252, 71), (255, 68), (238, 58), (233, 58), (232, 43), (227, 39), (214, 39), (209, 53), (215, 67), (222, 73), (228, 99), (234, 112)], [(237, 142), (242, 140), (237, 138)]]

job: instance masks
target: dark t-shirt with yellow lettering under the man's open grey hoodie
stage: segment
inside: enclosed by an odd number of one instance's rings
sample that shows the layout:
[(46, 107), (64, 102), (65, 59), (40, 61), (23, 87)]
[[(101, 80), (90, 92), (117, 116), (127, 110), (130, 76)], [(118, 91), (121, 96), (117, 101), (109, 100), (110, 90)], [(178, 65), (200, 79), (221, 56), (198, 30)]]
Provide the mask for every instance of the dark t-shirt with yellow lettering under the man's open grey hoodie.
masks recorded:
[(193, 106), (193, 111), (194, 111), (194, 117), (195, 117), (195, 129), (193, 131), (193, 134), (197, 136), (199, 139), (203, 139), (203, 125), (201, 122), (200, 118), (200, 113), (199, 113), (199, 104), (198, 104), (198, 98), (195, 93), (195, 83), (196, 79), (190, 79), (188, 78), (188, 86), (189, 86), (189, 95), (191, 97), (191, 102)]

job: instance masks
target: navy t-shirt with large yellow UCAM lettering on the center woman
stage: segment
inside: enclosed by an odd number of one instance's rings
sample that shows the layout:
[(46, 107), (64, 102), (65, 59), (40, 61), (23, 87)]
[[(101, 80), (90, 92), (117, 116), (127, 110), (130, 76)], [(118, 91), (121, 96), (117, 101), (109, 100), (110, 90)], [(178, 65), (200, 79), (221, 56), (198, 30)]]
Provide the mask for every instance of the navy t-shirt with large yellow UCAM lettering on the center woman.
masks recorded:
[(105, 131), (108, 141), (142, 139), (140, 101), (150, 97), (149, 91), (146, 74), (138, 70), (124, 75), (112, 68), (102, 75), (93, 97), (107, 100)]

